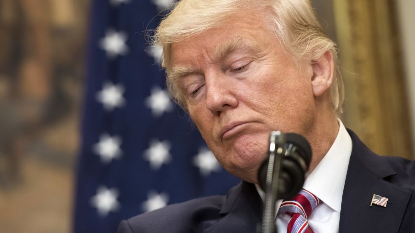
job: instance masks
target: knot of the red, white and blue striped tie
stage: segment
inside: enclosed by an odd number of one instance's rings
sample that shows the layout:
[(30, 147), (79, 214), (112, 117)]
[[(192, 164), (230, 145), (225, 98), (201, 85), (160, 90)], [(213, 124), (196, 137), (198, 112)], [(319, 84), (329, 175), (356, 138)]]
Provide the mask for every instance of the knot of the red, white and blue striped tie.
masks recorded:
[(311, 212), (318, 206), (320, 199), (309, 191), (302, 189), (300, 192), (291, 200), (284, 200), (281, 203), (279, 212), (290, 214), (301, 214), (305, 218), (311, 214)]

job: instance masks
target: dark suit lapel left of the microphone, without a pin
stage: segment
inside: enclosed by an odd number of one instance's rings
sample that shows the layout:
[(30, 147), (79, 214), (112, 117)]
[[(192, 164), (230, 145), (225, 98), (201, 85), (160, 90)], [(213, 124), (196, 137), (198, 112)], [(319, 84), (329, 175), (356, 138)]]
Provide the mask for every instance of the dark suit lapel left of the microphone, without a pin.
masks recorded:
[(231, 189), (220, 214), (203, 223), (204, 233), (255, 233), (261, 223), (262, 201), (253, 184), (243, 181)]

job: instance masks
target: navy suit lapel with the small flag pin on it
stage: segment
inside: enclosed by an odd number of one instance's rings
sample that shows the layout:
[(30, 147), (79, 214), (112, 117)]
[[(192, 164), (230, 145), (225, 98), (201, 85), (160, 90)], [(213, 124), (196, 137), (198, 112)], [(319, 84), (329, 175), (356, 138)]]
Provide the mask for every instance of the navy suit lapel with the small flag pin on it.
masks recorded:
[[(396, 233), (410, 192), (387, 181), (396, 173), (380, 156), (370, 151), (351, 131), (353, 150), (347, 171), (341, 212), (340, 233)], [(385, 207), (370, 206), (373, 194), (389, 198)]]

